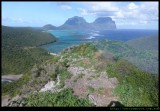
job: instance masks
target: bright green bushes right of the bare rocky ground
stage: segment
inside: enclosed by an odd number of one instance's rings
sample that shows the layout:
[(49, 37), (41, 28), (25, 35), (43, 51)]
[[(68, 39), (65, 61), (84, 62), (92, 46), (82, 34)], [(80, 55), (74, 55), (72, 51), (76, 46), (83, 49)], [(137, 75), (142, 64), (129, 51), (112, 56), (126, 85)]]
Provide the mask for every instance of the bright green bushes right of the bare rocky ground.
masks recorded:
[(110, 77), (119, 81), (115, 94), (125, 106), (158, 106), (158, 77), (146, 73), (126, 60), (107, 66)]

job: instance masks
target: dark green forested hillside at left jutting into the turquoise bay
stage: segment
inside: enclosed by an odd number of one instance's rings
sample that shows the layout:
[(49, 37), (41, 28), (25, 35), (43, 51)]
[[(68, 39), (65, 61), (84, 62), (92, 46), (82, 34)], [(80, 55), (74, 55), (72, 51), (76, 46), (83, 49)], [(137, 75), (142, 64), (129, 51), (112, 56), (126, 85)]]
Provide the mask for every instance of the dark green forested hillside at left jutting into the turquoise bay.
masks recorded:
[(49, 56), (37, 46), (55, 40), (51, 34), (32, 28), (2, 26), (2, 74), (25, 73)]

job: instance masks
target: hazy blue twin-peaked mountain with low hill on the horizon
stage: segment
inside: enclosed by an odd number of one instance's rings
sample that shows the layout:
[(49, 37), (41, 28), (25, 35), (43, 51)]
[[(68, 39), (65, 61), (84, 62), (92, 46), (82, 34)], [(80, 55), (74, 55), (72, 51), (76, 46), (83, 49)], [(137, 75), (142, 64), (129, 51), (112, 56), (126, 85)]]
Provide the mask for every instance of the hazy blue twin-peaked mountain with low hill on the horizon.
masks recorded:
[(110, 17), (99, 17), (94, 22), (88, 23), (83, 17), (74, 16), (69, 18), (63, 25), (55, 27), (47, 24), (42, 27), (43, 30), (56, 29), (91, 29), (91, 30), (110, 30), (116, 29), (115, 21)]

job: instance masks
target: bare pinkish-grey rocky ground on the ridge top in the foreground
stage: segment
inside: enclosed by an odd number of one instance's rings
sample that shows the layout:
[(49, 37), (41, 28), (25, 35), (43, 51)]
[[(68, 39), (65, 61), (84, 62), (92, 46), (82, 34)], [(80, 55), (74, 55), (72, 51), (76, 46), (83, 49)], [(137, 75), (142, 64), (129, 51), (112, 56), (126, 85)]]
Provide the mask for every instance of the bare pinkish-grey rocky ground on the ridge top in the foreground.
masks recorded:
[[(83, 68), (70, 65), (68, 71), (73, 76), (65, 81), (65, 87), (72, 88), (74, 94), (84, 98), (88, 95), (88, 99), (96, 106), (107, 106), (111, 101), (118, 98), (113, 96), (113, 90), (118, 84), (118, 80), (109, 78), (106, 72), (96, 72), (94, 68)], [(88, 87), (94, 89), (93, 92), (88, 91)]]

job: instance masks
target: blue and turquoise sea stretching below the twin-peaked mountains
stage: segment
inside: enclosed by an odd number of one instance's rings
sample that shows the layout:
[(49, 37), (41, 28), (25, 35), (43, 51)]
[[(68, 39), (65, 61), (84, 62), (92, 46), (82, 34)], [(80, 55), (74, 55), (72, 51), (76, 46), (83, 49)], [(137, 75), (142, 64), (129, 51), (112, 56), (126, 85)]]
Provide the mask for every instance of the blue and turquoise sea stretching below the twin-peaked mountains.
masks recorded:
[(117, 30), (49, 30), (58, 40), (55, 43), (43, 45), (49, 52), (58, 53), (64, 48), (78, 45), (84, 42), (97, 40), (121, 40), (128, 41), (139, 37), (158, 35), (158, 30), (137, 30), (137, 29), (117, 29)]

